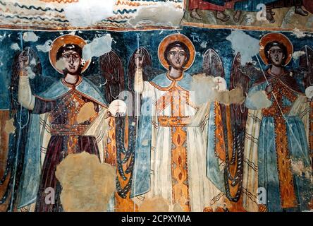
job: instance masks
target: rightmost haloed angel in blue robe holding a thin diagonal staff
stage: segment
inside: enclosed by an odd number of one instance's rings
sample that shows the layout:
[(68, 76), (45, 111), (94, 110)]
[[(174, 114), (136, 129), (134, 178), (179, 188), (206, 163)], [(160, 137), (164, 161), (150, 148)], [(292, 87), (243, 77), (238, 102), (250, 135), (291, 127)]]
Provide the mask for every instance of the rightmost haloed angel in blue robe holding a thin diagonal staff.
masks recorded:
[[(302, 75), (285, 68), (293, 44), (284, 35), (269, 33), (260, 40), (259, 54), (269, 68), (254, 81), (246, 100), (244, 207), (248, 211), (308, 210), (312, 198), (310, 111)], [(259, 188), (264, 190), (258, 201)]]

